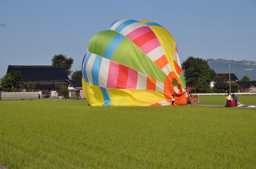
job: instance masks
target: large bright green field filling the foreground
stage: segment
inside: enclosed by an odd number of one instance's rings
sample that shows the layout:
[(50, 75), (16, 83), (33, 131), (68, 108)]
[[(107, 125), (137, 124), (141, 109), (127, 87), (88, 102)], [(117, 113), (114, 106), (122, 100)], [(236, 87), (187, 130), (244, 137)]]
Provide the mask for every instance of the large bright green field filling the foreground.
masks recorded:
[(0, 107), (0, 163), (9, 169), (256, 168), (254, 109), (65, 100)]

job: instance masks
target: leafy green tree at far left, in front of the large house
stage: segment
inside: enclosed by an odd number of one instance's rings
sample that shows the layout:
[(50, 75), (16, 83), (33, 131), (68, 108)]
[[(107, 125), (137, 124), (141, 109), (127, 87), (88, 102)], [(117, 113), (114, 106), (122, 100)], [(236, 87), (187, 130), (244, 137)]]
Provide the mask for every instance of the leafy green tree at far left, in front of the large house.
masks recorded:
[(22, 85), (23, 82), (20, 80), (23, 78), (20, 71), (12, 71), (4, 75), (1, 79), (2, 90), (5, 91), (16, 91), (17, 87)]

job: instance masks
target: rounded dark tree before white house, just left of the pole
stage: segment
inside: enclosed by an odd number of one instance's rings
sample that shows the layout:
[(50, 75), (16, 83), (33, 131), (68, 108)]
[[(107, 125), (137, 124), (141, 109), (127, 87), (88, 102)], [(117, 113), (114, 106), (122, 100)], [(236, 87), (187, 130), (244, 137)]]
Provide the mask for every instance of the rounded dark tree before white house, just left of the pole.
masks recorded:
[(226, 91), (229, 89), (229, 84), (227, 83), (227, 79), (224, 75), (218, 76), (216, 75), (213, 78), (214, 87), (213, 92), (215, 93), (226, 93)]

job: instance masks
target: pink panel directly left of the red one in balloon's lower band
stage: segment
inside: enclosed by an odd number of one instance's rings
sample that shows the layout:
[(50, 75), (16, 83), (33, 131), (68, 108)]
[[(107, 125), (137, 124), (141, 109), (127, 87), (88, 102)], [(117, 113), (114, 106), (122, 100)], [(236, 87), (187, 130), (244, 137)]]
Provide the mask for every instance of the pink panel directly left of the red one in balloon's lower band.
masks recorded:
[(119, 72), (119, 63), (110, 61), (107, 88), (116, 88), (118, 72)]

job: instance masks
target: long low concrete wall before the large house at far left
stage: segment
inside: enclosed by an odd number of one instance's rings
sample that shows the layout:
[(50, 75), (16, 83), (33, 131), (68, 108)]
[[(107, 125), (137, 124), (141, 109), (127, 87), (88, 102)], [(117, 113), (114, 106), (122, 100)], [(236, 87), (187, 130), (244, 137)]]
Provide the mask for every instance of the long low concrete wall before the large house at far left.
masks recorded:
[(0, 100), (40, 99), (40, 92), (0, 92)]

